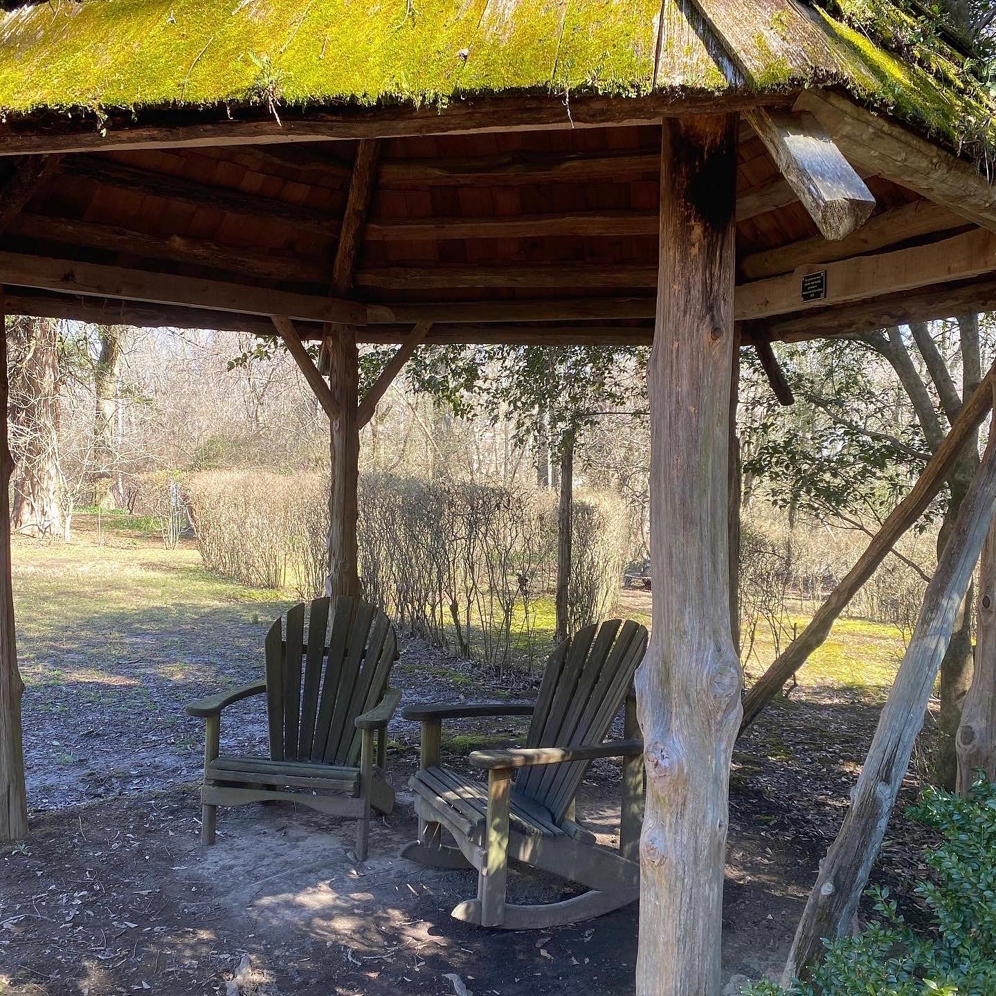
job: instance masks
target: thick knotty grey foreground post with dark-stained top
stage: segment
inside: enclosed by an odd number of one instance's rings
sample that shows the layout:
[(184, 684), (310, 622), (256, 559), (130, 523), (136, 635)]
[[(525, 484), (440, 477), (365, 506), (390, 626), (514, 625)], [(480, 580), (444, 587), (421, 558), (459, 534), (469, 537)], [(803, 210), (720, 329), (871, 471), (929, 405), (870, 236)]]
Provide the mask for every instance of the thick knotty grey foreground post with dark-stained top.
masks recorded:
[(637, 996), (717, 996), (740, 662), (730, 634), (728, 430), (735, 117), (662, 124), (648, 370), (653, 627), (636, 674), (645, 744)]

